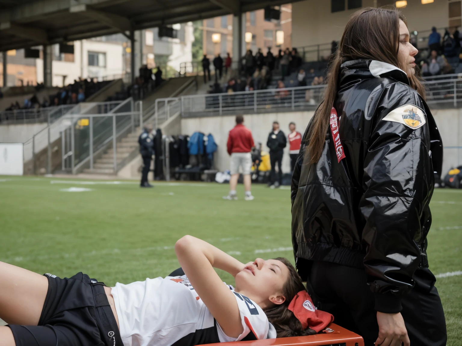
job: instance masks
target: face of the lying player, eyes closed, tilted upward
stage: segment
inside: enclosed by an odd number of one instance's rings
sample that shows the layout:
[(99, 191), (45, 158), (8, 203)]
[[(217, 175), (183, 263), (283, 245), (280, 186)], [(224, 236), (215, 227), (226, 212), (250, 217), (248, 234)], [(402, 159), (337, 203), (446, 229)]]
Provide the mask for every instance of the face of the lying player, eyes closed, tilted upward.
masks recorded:
[(243, 292), (261, 308), (285, 301), (283, 287), (289, 279), (289, 269), (278, 260), (257, 258), (236, 275), (236, 291)]

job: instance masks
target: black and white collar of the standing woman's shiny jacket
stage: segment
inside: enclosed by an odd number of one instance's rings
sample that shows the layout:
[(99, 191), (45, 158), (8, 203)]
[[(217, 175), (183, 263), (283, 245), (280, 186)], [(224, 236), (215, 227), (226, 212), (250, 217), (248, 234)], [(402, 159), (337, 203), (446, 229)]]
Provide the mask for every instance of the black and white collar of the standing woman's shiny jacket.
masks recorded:
[(340, 66), (340, 88), (352, 81), (367, 78), (392, 78), (409, 85), (406, 72), (396, 66), (377, 60), (350, 60)]

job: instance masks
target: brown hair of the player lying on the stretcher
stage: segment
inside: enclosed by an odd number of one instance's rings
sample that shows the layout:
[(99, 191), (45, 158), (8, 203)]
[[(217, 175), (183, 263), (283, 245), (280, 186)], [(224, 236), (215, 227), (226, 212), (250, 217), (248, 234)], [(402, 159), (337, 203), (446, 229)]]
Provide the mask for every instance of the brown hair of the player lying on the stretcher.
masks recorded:
[(278, 338), (316, 334), (313, 329), (303, 329), (302, 323), (298, 321), (293, 312), (288, 309), (293, 297), (295, 297), (300, 291), (306, 291), (305, 286), (303, 286), (302, 279), (300, 279), (300, 276), (289, 260), (283, 257), (274, 259), (283, 262), (286, 267), (289, 268), (289, 279), (282, 288), (282, 293), (284, 297), (286, 297), (284, 303), (280, 305), (273, 305), (264, 310), (268, 317), (268, 321), (271, 322), (276, 329)]

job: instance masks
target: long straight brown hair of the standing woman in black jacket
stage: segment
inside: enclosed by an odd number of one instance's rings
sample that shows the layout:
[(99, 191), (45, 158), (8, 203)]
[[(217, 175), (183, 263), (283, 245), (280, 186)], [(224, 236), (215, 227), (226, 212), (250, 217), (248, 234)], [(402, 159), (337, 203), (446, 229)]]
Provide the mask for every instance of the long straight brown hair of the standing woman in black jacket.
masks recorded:
[[(330, 110), (338, 92), (341, 64), (348, 60), (378, 60), (404, 70), (398, 61), (400, 19), (407, 25), (406, 18), (396, 9), (366, 7), (355, 12), (346, 24), (328, 70), (324, 100), (315, 112), (308, 133), (310, 163), (319, 161), (324, 148)], [(425, 98), (419, 78), (412, 76), (409, 84)]]

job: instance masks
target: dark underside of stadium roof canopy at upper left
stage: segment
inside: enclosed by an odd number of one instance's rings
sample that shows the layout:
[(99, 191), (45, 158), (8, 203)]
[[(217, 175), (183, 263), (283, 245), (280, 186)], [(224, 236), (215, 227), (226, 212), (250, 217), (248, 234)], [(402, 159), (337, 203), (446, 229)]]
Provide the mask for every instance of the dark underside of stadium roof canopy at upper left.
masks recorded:
[[(0, 51), (277, 6), (287, 0), (0, 0)], [(293, 2), (293, 1), (292, 1)]]

